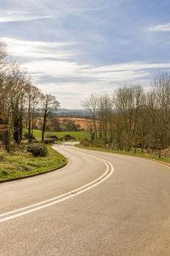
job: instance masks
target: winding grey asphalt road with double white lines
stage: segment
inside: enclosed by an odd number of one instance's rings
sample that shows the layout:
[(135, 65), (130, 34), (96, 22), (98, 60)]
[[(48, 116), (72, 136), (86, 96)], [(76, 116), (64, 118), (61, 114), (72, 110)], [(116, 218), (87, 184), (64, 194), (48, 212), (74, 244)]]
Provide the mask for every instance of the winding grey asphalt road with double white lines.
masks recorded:
[(73, 147), (55, 172), (0, 184), (0, 255), (170, 255), (170, 169)]

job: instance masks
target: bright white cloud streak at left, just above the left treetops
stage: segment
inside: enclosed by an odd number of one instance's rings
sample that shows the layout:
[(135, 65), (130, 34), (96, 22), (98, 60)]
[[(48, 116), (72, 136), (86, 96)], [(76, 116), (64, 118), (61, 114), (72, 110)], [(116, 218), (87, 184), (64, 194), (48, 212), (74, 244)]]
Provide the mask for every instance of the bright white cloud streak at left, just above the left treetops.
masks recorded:
[(15, 38), (2, 40), (8, 45), (9, 55), (15, 57), (67, 59), (78, 54), (75, 50), (68, 49), (73, 43), (26, 41)]

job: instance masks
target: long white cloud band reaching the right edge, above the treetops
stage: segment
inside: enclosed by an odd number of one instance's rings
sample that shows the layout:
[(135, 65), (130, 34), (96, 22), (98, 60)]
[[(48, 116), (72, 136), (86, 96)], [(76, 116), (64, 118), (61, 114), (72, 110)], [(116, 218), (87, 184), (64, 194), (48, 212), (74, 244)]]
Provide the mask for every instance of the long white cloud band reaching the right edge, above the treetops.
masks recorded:
[(76, 61), (29, 61), (22, 65), (35, 77), (43, 76), (56, 79), (79, 79), (87, 81), (132, 82), (136, 79), (149, 77), (149, 69), (170, 68), (170, 63), (129, 62), (102, 67), (81, 65)]

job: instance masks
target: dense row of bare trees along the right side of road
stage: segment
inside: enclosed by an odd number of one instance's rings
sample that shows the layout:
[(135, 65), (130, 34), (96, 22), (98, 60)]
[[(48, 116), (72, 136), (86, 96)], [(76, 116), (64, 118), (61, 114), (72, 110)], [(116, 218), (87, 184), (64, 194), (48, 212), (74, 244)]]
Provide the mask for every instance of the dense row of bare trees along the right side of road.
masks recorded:
[(83, 102), (93, 123), (91, 143), (130, 151), (141, 148), (159, 152), (170, 146), (170, 75), (162, 73), (150, 90), (133, 84), (120, 87), (112, 96), (91, 95)]

